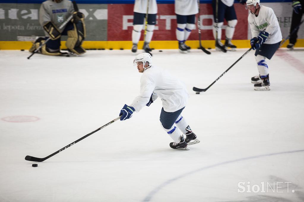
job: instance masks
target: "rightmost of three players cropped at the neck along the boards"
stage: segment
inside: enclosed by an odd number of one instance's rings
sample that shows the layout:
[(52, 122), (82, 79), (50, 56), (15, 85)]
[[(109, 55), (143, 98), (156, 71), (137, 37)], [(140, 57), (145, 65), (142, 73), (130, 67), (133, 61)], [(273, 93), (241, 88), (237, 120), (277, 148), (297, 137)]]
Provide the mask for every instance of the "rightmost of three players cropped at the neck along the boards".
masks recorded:
[[(237, 25), (237, 15), (234, 10), (233, 2), (234, 0), (212, 0), (214, 18), (212, 32), (215, 39), (215, 48), (218, 51), (234, 51), (237, 48), (237, 46), (233, 45), (231, 42), (235, 26)], [(224, 18), (227, 21), (225, 45), (221, 42)]]

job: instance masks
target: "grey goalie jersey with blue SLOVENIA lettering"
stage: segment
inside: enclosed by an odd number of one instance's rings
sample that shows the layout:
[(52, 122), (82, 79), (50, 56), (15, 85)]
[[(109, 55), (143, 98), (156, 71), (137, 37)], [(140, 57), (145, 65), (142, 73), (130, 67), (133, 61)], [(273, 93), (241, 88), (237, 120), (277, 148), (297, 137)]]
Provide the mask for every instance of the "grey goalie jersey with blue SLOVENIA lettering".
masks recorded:
[[(73, 12), (73, 3), (69, 0), (63, 0), (60, 3), (47, 0), (41, 4), (39, 9), (40, 25), (43, 26), (45, 23), (51, 21), (57, 28), (59, 28), (60, 25), (73, 14)], [(48, 36), (47, 32), (45, 33)]]

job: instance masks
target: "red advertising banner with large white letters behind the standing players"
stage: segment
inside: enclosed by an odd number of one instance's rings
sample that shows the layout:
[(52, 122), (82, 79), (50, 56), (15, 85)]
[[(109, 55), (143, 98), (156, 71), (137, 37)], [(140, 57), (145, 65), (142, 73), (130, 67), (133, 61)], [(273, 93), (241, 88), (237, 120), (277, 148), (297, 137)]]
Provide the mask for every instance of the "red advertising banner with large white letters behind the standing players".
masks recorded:
[[(133, 30), (133, 4), (109, 4), (108, 5), (108, 41), (131, 41)], [(158, 4), (157, 25), (154, 29), (152, 40), (176, 40), (176, 15), (174, 4)], [(237, 13), (237, 26), (233, 39), (247, 39), (248, 11), (242, 4), (234, 4)], [(200, 5), (202, 40), (214, 40), (212, 35), (212, 6), (211, 4)], [(197, 21), (197, 19), (196, 19)], [(196, 22), (197, 23), (197, 22)], [(197, 25), (197, 24), (196, 24)], [(224, 22), (222, 39), (225, 39)], [(143, 31), (142, 31), (143, 32)], [(192, 30), (188, 40), (198, 40), (197, 28)], [(143, 40), (143, 35), (140, 40)]]

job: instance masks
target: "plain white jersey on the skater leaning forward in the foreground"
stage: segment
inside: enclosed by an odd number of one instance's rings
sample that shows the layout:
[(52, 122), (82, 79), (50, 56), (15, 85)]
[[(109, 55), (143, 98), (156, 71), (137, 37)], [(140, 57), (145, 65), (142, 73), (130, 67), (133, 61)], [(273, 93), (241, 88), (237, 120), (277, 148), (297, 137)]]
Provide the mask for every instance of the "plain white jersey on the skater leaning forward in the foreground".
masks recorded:
[(186, 106), (189, 98), (185, 84), (157, 66), (147, 68), (140, 78), (140, 94), (131, 106), (139, 112), (150, 100), (161, 98), (165, 112), (176, 112)]

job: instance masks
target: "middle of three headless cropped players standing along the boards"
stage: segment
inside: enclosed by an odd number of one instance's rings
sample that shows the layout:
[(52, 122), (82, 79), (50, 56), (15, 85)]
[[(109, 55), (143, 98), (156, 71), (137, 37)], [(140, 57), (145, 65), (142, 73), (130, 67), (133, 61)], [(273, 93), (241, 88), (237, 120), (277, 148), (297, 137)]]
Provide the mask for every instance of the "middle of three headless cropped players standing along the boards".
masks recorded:
[(191, 49), (185, 44), (192, 29), (195, 29), (195, 15), (199, 12), (197, 0), (175, 0), (175, 14), (177, 18), (176, 38), (178, 49), (187, 53)]

